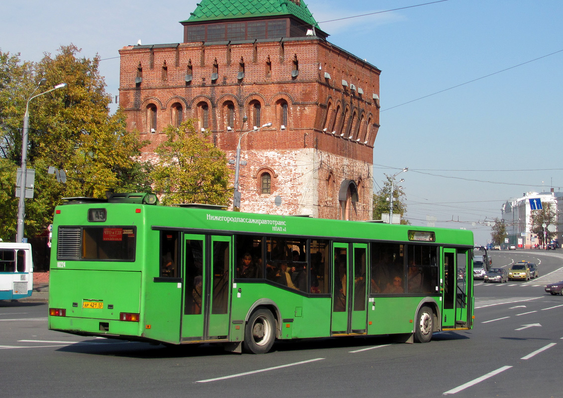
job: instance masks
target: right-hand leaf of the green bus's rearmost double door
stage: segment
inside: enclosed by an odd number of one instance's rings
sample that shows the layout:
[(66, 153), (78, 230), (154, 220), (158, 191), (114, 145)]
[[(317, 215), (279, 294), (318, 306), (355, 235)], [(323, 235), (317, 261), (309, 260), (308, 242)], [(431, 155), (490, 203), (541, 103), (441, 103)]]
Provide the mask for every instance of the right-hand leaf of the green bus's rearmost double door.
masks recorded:
[(205, 271), (206, 339), (225, 339), (229, 334), (231, 236), (210, 236)]

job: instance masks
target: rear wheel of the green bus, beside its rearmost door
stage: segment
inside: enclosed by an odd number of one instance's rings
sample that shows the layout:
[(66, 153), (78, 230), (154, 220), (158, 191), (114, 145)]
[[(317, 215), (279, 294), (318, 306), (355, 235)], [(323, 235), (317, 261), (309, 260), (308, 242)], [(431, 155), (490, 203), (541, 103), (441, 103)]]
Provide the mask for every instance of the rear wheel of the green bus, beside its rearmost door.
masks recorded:
[(244, 352), (248, 354), (266, 354), (276, 338), (274, 315), (269, 310), (254, 311), (244, 327)]

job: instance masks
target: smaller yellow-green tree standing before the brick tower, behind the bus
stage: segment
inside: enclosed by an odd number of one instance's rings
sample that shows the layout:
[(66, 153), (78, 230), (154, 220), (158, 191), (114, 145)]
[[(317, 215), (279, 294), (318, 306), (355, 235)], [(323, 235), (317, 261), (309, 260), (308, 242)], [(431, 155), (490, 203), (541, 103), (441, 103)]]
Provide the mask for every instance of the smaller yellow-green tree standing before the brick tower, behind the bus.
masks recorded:
[(155, 151), (158, 163), (151, 176), (155, 190), (163, 193), (163, 204), (205, 203), (227, 205), (233, 195), (231, 170), (223, 151), (208, 141), (209, 133), (199, 132), (195, 120), (180, 127), (164, 129), (167, 140)]

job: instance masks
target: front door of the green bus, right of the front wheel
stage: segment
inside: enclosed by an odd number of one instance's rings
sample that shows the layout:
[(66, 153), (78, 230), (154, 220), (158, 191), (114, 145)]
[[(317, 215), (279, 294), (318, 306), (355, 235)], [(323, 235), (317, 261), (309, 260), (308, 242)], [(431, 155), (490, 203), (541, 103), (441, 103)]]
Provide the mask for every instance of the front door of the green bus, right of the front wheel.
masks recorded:
[[(442, 324), (452, 328), (467, 321), (467, 250), (444, 249)], [(472, 272), (472, 271), (471, 271)]]

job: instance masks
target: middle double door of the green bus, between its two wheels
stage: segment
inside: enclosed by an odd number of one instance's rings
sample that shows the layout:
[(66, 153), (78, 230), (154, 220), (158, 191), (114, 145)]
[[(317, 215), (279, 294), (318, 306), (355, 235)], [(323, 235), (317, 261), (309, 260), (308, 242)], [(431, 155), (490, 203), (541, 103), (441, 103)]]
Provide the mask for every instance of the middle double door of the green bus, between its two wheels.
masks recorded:
[(332, 334), (366, 333), (367, 244), (333, 244)]

